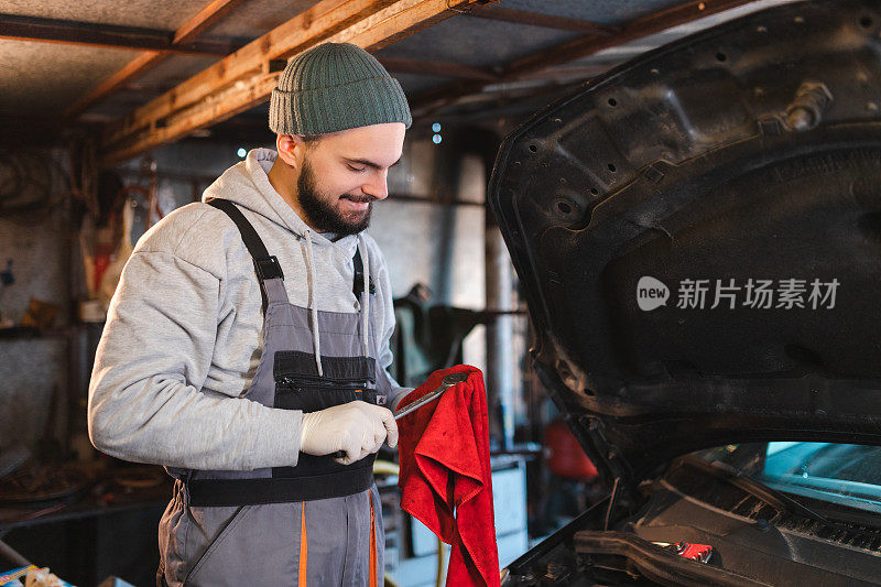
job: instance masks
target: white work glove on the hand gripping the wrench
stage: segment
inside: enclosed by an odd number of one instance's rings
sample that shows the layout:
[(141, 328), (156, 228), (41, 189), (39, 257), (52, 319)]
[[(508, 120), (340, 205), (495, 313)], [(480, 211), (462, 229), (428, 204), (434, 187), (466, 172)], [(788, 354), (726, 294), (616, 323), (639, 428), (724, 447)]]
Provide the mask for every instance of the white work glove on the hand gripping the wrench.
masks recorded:
[(358, 400), (303, 414), (300, 452), (324, 456), (344, 450), (346, 456), (334, 460), (350, 465), (379, 450), (387, 438), (390, 447), (398, 445), (394, 414)]

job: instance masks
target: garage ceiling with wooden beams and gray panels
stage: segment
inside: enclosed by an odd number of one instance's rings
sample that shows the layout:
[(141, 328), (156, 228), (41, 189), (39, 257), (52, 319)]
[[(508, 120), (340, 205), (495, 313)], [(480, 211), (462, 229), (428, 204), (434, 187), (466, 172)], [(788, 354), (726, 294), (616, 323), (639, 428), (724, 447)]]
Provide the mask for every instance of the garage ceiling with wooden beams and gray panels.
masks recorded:
[(418, 120), (545, 104), (629, 58), (786, 0), (0, 0), (0, 124), (99, 124), (102, 163), (265, 129), (285, 59), (371, 51)]

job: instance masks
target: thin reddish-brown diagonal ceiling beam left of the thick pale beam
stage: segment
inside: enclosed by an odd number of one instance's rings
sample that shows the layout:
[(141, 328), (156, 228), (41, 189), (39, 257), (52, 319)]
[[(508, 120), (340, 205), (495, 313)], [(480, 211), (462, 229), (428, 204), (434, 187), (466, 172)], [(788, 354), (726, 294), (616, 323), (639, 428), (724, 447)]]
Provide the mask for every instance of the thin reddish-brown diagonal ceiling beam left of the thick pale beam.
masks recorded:
[[(187, 20), (174, 32), (172, 45), (178, 46), (193, 42), (197, 35), (206, 31), (209, 26), (216, 24), (218, 21), (220, 21), (220, 19), (229, 14), (230, 11), (232, 11), (243, 1), (244, 0), (213, 0), (196, 15)], [(229, 55), (229, 53), (231, 53), (231, 51), (228, 51), (224, 55)], [(138, 55), (129, 64), (122, 67), (122, 69), (98, 84), (98, 86), (93, 88), (91, 91), (74, 102), (64, 112), (64, 116), (66, 118), (79, 116), (86, 109), (99, 102), (110, 94), (117, 91), (130, 80), (154, 68), (156, 65), (165, 61), (168, 55), (171, 55), (171, 52), (165, 51), (148, 51)]]

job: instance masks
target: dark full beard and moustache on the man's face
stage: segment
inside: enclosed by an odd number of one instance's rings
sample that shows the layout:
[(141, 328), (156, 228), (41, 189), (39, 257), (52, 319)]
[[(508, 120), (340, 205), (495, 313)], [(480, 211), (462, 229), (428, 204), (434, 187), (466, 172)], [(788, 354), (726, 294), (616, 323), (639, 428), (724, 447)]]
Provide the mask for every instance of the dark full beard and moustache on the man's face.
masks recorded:
[[(352, 196), (344, 194), (339, 197), (323, 196), (318, 192), (315, 182), (315, 174), (312, 172), (312, 166), (308, 160), (303, 162), (303, 171), (300, 173), (300, 178), (296, 182), (297, 199), (300, 206), (315, 230), (319, 232), (334, 232), (339, 237), (348, 235), (357, 235), (370, 225), (370, 215), (373, 211), (373, 196)], [(340, 210), (335, 206), (340, 198), (351, 199), (354, 202), (369, 202), (367, 209), (363, 211), (350, 210), (348, 213)]]

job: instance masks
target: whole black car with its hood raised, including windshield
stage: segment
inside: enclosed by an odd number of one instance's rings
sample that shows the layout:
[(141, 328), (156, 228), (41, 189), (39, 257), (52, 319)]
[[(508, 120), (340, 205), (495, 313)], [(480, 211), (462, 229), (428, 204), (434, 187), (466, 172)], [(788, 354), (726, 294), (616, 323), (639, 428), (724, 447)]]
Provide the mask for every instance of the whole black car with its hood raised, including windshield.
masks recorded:
[(881, 584), (880, 9), (724, 23), (503, 142), (534, 367), (610, 490), (509, 585)]

